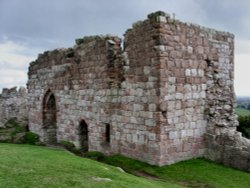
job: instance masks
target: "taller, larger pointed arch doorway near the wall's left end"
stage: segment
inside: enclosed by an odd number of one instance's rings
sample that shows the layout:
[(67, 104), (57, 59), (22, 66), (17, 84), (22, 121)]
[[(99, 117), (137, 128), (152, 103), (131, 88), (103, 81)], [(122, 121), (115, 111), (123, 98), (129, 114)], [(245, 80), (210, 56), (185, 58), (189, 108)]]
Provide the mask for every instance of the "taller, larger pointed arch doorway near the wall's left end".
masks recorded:
[(56, 98), (55, 95), (48, 90), (43, 100), (43, 129), (44, 141), (48, 144), (56, 144)]

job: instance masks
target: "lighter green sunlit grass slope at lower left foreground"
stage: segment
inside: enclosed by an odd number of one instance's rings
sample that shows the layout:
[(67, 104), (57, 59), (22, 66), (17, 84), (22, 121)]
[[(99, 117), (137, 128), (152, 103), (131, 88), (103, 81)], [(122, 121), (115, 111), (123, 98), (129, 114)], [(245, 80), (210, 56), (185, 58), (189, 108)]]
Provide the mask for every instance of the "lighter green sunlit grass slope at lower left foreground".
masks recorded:
[[(112, 181), (98, 181), (109, 178)], [(59, 149), (0, 144), (1, 188), (148, 188), (181, 187), (120, 172), (117, 168), (80, 158)]]

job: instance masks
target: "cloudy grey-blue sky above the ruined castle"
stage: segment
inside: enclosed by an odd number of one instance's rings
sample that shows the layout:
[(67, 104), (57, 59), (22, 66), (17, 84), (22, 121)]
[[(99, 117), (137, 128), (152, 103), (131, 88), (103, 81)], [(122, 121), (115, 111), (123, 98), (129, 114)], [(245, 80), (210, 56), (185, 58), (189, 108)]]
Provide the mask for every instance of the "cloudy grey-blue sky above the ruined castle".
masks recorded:
[(250, 96), (249, 0), (0, 0), (0, 89), (26, 85), (38, 53), (86, 35), (116, 34), (162, 10), (235, 35), (235, 91)]

